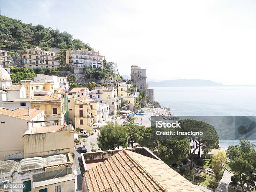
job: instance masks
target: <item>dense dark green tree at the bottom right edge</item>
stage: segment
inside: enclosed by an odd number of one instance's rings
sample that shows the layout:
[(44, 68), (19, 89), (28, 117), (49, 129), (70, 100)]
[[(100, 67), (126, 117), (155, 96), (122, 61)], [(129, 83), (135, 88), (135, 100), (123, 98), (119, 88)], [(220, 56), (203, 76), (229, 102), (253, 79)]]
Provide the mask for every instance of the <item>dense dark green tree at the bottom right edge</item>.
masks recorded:
[(239, 178), (240, 186), (244, 189), (247, 184), (255, 186), (256, 181), (256, 145), (246, 138), (240, 140), (240, 146), (229, 146), (227, 155), (229, 166), (234, 176)]

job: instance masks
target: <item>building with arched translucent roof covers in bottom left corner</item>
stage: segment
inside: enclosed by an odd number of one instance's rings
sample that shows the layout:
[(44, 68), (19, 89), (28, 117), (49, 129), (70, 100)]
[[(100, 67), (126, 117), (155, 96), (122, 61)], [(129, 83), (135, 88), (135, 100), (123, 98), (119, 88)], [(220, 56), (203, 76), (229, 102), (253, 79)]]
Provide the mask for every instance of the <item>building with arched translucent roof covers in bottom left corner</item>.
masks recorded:
[[(0, 189), (6, 192), (74, 192), (73, 159), (70, 153), (36, 156), (20, 161), (1, 161)], [(24, 184), (13, 190), (3, 184)]]

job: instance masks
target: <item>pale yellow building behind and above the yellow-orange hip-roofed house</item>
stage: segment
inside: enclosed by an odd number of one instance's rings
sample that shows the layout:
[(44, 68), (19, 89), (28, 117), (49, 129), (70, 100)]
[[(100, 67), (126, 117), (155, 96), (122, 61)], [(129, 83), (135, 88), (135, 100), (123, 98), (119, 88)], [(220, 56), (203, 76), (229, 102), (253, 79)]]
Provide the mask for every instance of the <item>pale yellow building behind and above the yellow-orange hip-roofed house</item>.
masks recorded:
[(34, 82), (31, 80), (21, 80), (21, 84), (26, 88), (26, 98), (32, 98), (34, 95), (42, 94), (43, 92), (54, 93), (54, 82)]

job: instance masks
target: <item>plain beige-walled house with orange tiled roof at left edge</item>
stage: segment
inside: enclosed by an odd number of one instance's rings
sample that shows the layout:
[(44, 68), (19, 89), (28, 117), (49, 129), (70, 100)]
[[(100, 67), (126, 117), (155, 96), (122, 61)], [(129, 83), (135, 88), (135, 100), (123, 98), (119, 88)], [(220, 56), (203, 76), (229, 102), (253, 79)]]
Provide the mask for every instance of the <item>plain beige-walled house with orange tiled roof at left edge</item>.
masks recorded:
[(0, 160), (24, 157), (23, 134), (44, 120), (44, 110), (0, 108)]

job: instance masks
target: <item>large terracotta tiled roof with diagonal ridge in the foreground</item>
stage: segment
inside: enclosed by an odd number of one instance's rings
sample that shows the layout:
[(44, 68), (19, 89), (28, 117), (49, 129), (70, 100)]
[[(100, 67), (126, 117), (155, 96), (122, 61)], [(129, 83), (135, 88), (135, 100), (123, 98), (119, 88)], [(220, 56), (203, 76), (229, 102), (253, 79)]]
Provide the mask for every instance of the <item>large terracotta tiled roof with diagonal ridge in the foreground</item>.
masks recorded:
[(122, 150), (84, 173), (89, 191), (201, 192), (163, 161)]

